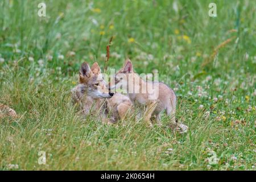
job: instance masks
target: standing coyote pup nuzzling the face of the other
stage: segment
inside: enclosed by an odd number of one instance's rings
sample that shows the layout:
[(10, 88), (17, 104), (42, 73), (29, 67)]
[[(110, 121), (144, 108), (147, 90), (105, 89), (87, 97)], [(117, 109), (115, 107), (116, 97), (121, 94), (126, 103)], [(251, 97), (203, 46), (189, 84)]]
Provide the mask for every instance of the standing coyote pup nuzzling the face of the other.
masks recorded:
[(159, 125), (160, 114), (166, 110), (166, 114), (171, 117), (172, 126), (177, 126), (181, 133), (187, 131), (188, 127), (175, 122), (176, 111), (176, 95), (174, 91), (162, 82), (144, 81), (137, 73), (133, 71), (133, 64), (129, 59), (125, 61), (125, 65), (116, 74), (114, 80), (110, 81), (109, 88), (126, 89), (130, 100), (139, 105), (146, 105), (144, 119), (150, 126), (151, 116), (155, 115)]

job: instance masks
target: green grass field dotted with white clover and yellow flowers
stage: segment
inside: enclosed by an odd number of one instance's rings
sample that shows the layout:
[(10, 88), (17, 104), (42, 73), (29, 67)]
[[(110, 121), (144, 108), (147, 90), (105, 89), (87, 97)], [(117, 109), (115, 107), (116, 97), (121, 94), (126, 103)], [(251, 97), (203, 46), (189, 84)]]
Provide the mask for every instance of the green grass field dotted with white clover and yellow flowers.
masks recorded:
[[(19, 115), (0, 118), (1, 170), (255, 170), (255, 1), (40, 2), (0, 1), (0, 103)], [(187, 134), (76, 114), (79, 67), (103, 69), (111, 36), (108, 69), (158, 72)]]

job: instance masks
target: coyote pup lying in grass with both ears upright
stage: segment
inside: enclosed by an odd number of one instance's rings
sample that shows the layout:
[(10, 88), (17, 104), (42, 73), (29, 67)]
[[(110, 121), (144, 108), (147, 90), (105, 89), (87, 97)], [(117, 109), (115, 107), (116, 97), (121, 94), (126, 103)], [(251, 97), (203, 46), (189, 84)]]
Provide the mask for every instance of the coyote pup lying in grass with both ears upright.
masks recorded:
[[(114, 123), (125, 118), (133, 105), (129, 97), (109, 92), (97, 63), (91, 68), (88, 63), (82, 63), (79, 82), (80, 84), (72, 89), (72, 101), (80, 104), (84, 115), (96, 111), (103, 121)], [(106, 118), (108, 114), (110, 119)]]

